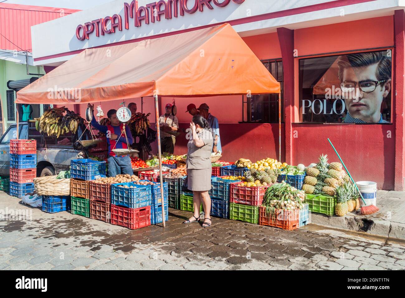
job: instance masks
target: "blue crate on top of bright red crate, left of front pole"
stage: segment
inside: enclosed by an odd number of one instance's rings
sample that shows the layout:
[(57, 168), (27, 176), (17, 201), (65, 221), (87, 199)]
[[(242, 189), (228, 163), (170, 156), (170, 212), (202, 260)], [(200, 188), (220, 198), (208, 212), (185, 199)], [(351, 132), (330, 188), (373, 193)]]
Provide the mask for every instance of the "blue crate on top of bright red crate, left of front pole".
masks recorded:
[[(118, 185), (133, 186), (133, 188)], [(111, 204), (127, 208), (141, 208), (151, 204), (152, 190), (150, 185), (139, 185), (134, 182), (116, 183), (111, 185)]]

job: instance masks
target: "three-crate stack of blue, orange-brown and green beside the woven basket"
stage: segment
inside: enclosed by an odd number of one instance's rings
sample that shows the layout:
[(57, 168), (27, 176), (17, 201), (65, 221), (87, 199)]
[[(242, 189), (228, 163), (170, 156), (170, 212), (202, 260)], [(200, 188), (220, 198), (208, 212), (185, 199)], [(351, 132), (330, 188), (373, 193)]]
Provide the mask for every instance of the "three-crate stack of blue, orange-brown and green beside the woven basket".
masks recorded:
[(92, 159), (74, 159), (70, 161), (72, 214), (90, 217), (90, 181), (105, 176), (105, 161), (93, 161)]

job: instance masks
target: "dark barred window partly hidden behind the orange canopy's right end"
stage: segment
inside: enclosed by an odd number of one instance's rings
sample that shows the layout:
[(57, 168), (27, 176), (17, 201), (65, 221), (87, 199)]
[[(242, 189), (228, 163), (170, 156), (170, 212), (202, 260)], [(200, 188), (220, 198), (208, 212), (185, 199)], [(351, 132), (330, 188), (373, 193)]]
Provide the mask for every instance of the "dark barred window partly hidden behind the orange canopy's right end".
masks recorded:
[[(280, 82), (281, 87), (281, 121), (283, 122), (283, 97), (284, 97), (284, 82), (283, 82), (283, 62), (281, 60), (264, 60), (262, 61), (266, 69), (273, 77)], [(260, 94), (252, 95), (251, 97), (243, 96), (243, 122), (258, 122), (258, 123), (278, 123), (279, 94)]]

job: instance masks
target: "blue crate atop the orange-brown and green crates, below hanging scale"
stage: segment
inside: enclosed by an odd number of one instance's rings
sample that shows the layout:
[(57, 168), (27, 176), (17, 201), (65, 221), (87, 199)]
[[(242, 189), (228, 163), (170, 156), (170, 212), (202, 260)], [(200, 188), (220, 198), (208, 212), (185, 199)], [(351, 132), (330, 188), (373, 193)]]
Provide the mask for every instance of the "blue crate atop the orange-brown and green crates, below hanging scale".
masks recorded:
[(106, 175), (105, 161), (73, 159), (70, 161), (70, 177), (82, 180), (95, 180)]

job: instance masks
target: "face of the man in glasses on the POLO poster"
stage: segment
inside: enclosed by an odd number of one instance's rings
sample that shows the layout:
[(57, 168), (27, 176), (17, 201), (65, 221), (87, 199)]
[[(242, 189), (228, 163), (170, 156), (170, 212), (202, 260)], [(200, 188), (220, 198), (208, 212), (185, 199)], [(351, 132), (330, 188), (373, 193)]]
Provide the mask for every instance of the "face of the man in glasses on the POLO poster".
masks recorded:
[(361, 90), (359, 82), (367, 85), (368, 81), (379, 81), (377, 67), (377, 63), (362, 67), (348, 67), (344, 69), (342, 75), (343, 82), (352, 82), (356, 85), (355, 91), (351, 92), (350, 96), (345, 96), (345, 105), (349, 114), (367, 123), (379, 121), (382, 101), (391, 90), (391, 79), (377, 84), (372, 92)]

